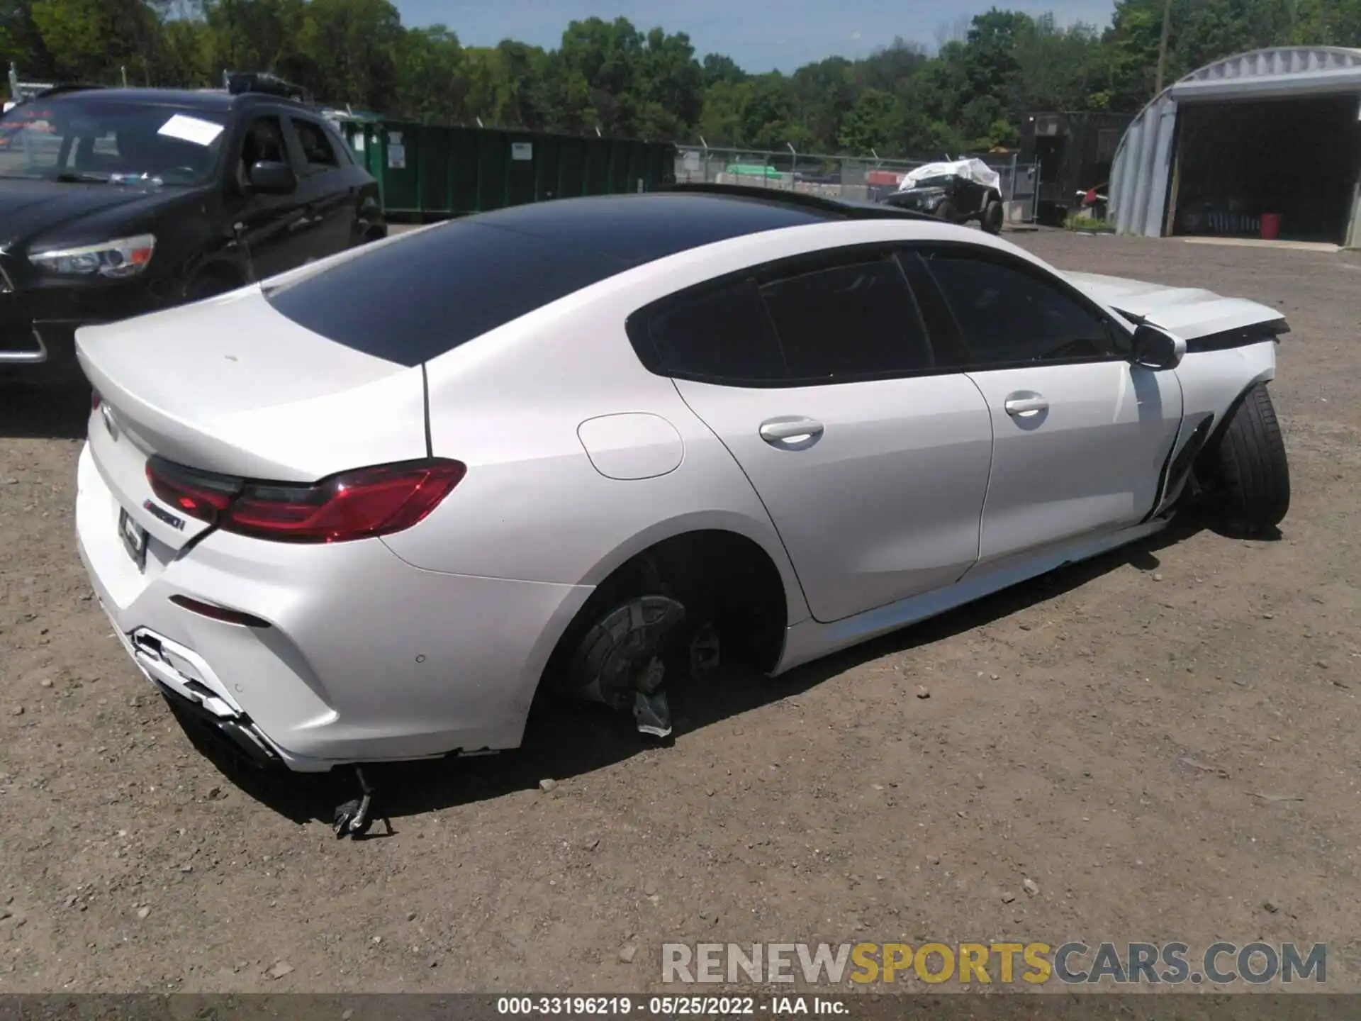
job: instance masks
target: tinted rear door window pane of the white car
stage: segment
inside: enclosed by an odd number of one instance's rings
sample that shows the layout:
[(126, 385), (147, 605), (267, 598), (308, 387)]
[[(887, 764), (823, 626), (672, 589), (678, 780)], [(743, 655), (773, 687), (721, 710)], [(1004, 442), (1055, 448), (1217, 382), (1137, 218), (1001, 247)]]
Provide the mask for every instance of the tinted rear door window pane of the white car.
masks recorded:
[(894, 376), (935, 365), (898, 264), (837, 265), (761, 289), (795, 380)]

